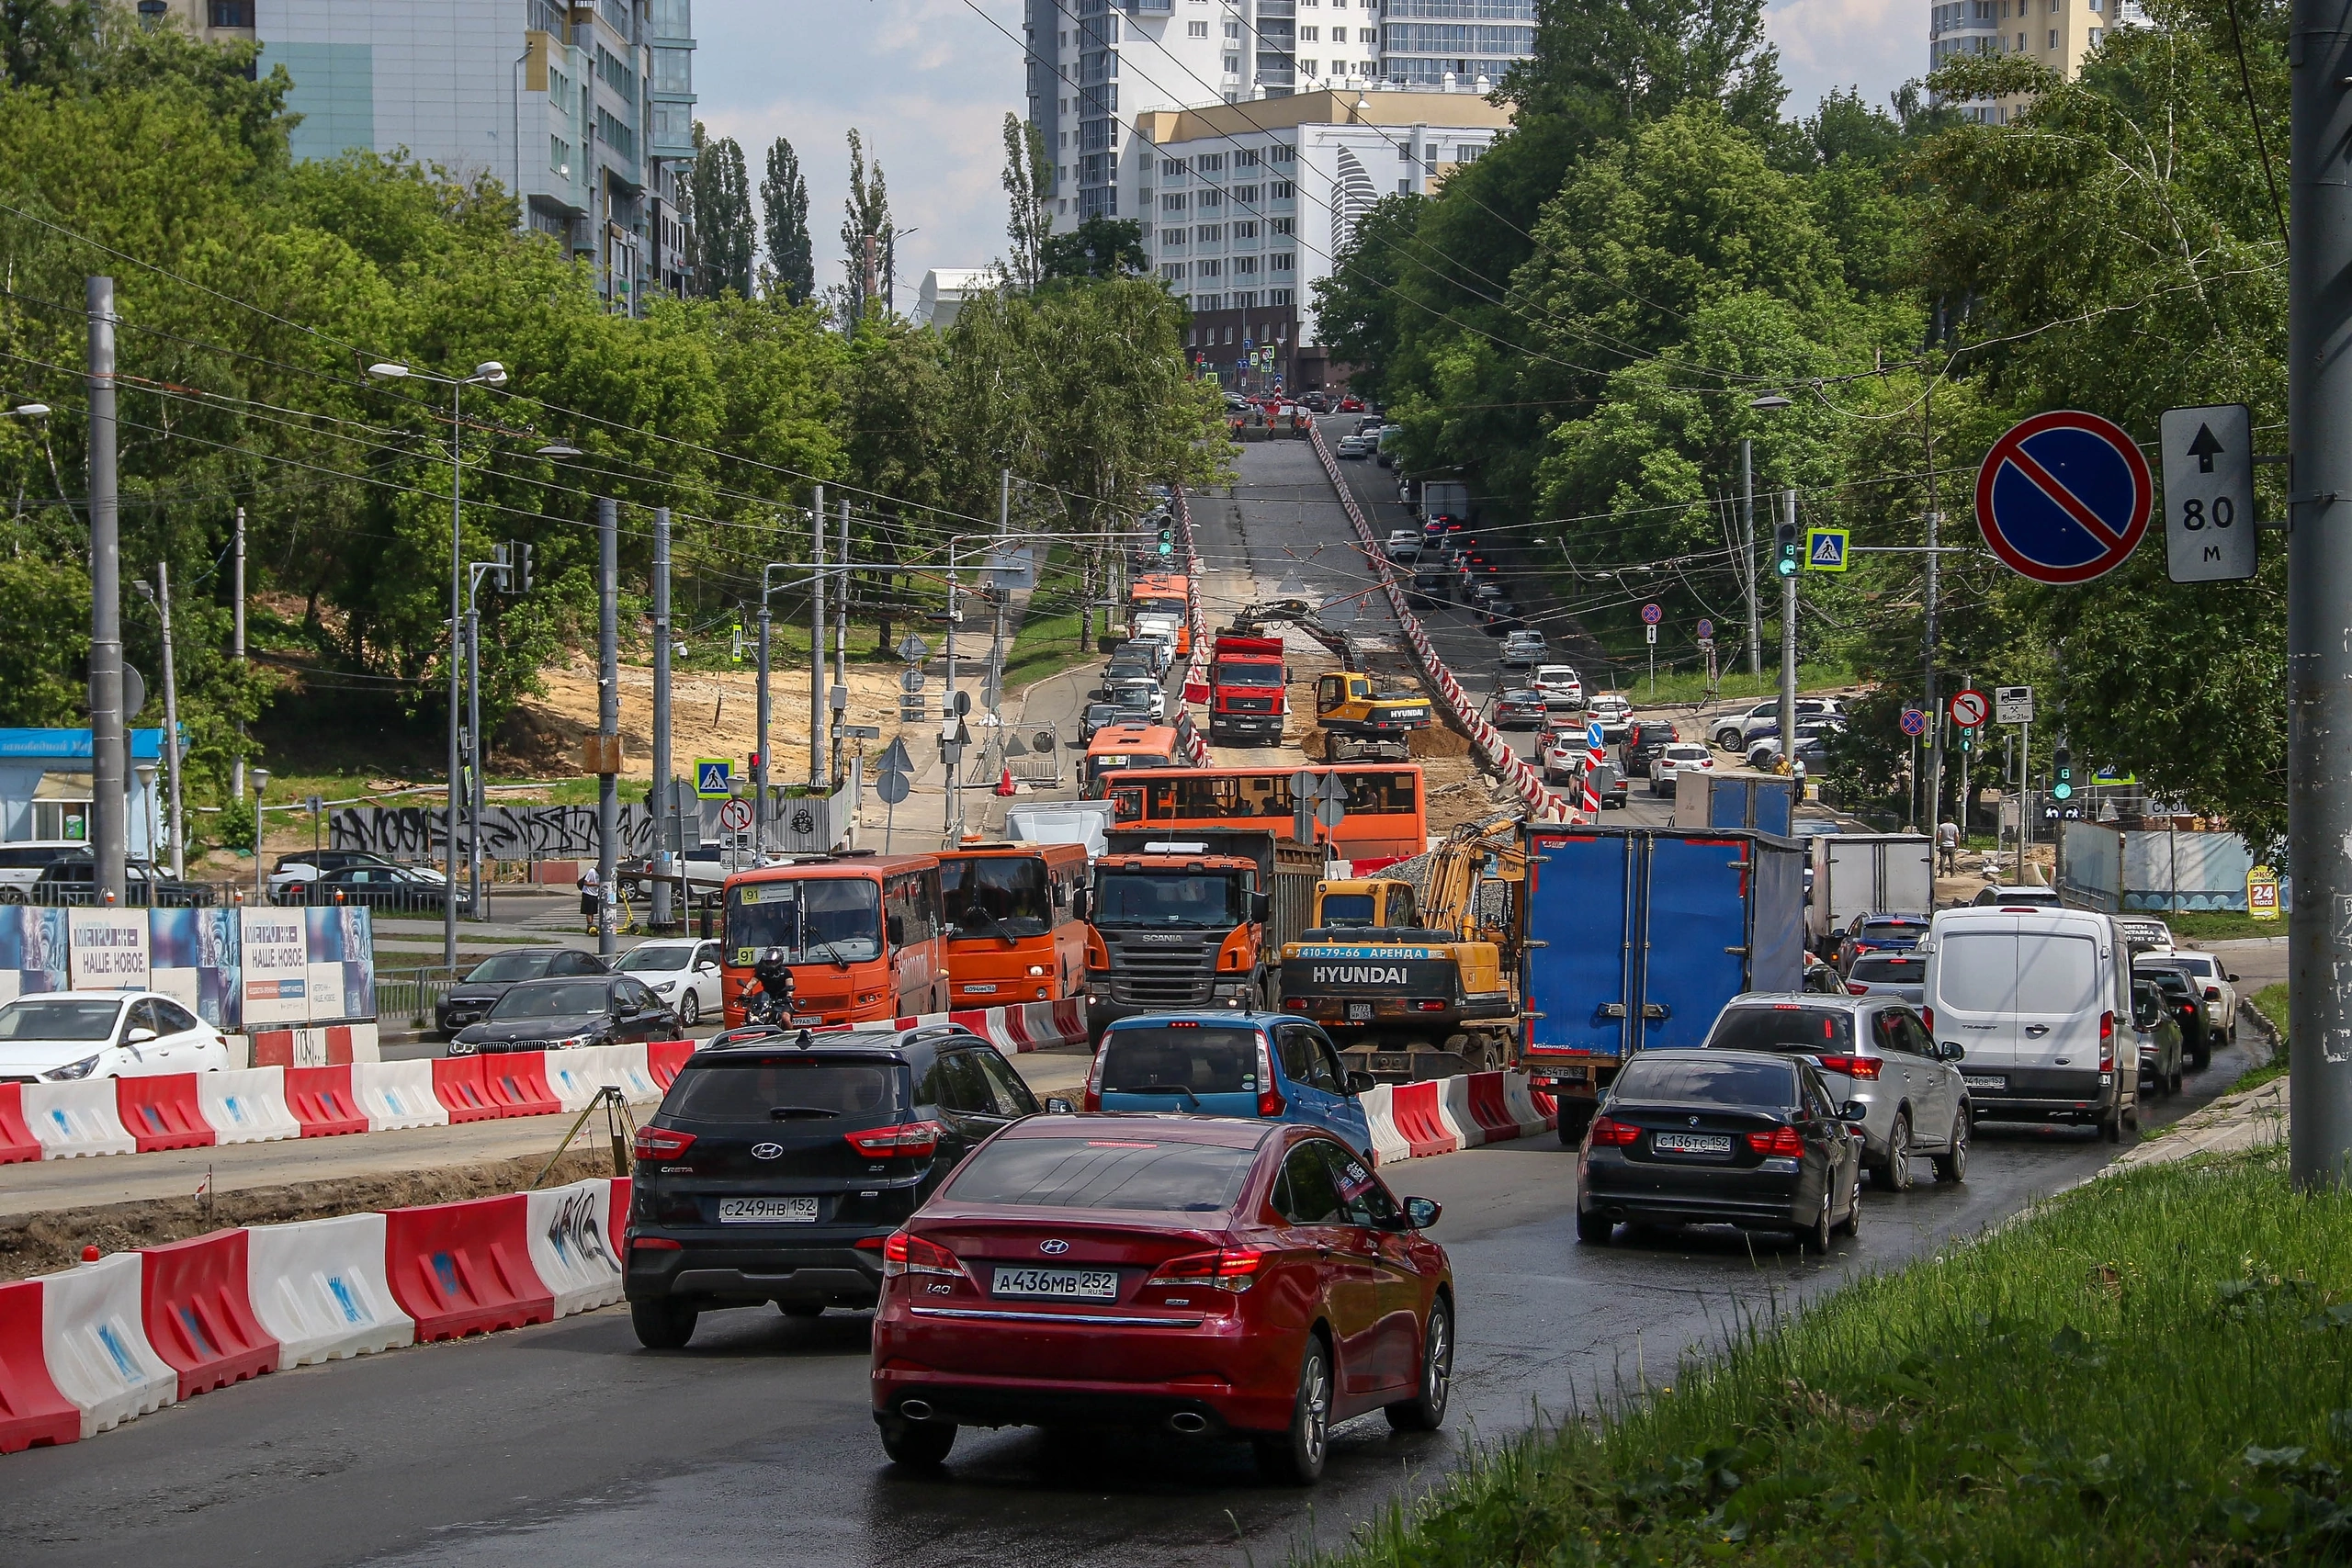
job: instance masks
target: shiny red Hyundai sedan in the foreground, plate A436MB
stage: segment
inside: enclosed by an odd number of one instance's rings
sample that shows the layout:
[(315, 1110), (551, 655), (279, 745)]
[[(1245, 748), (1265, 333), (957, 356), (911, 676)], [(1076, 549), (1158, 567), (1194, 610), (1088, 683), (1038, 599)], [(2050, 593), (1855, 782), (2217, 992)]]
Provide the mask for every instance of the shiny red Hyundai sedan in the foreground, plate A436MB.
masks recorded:
[(1268, 1476), (1310, 1483), (1331, 1422), (1446, 1415), (1435, 1222), (1310, 1126), (1018, 1121), (884, 1244), (882, 1448), (938, 1465), (957, 1425), (1160, 1427), (1247, 1436)]

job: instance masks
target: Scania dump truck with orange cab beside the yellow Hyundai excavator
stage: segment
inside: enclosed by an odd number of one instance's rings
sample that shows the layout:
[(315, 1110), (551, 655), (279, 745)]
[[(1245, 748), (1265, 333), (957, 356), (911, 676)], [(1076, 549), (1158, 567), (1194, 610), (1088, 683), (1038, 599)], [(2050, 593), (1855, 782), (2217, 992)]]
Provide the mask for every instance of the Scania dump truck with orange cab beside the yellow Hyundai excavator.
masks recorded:
[(1129, 1013), (1270, 1009), (1322, 865), (1263, 830), (1112, 832), (1087, 898), (1087, 1037)]

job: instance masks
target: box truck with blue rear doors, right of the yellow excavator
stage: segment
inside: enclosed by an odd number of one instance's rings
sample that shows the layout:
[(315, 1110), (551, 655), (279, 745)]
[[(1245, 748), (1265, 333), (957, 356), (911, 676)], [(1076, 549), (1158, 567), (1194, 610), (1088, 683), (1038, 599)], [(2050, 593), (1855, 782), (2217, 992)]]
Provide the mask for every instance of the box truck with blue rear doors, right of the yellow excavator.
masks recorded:
[(1519, 1065), (1583, 1138), (1618, 1067), (1696, 1046), (1731, 997), (1804, 983), (1804, 846), (1710, 827), (1529, 823)]

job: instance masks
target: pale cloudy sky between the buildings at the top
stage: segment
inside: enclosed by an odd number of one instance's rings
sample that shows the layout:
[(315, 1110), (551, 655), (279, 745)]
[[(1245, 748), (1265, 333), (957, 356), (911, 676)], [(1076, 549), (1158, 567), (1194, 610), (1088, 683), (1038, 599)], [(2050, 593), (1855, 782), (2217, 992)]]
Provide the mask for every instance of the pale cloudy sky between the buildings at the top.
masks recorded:
[[(1778, 0), (1769, 26), (1790, 108), (1830, 87), (1872, 103), (1926, 56), (1929, 0)], [(995, 26), (993, 26), (995, 24)], [(1002, 26), (1002, 31), (997, 31)], [(1007, 38), (1011, 33), (1011, 38)], [(898, 308), (934, 266), (1004, 254), (1004, 113), (1021, 113), (1021, 0), (694, 0), (694, 89), (713, 136), (743, 143), (753, 181), (776, 136), (809, 174), (818, 282), (842, 280), (849, 127), (882, 160), (898, 242)]]

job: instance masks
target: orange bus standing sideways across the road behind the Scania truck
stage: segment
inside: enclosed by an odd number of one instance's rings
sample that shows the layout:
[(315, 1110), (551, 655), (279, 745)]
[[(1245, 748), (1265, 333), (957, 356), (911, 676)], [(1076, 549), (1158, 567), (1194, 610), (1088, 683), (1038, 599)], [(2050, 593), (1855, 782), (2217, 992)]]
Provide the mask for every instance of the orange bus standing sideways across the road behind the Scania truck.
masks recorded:
[[(1272, 827), (1277, 839), (1294, 839), (1291, 773), (1277, 769), (1155, 769), (1127, 771), (1103, 783), (1112, 802), (1112, 827)], [(1341, 764), (1308, 769), (1317, 778), (1338, 773), (1348, 804), (1338, 827), (1319, 830), (1334, 856), (1352, 860), (1357, 875), (1409, 860), (1430, 846), (1428, 802), (1421, 792), (1418, 764)]]

